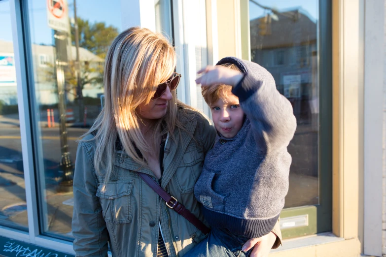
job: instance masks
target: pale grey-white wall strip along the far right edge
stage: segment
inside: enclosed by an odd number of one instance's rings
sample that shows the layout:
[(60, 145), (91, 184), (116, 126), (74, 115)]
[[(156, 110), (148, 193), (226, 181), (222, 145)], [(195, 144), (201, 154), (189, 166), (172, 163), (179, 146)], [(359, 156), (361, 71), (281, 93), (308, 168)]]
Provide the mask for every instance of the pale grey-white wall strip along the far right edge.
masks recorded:
[(365, 0), (363, 250), (371, 256), (386, 254), (385, 3)]

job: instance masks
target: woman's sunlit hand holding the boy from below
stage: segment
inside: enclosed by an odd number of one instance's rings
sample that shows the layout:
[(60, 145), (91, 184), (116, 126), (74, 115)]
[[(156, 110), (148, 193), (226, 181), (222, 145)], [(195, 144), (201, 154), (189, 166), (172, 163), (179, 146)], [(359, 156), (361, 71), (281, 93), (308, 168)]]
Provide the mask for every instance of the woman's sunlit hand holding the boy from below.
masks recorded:
[(253, 247), (250, 257), (268, 257), (268, 254), (271, 251), (275, 241), (276, 235), (271, 231), (265, 236), (252, 238), (246, 241), (243, 246), (243, 251), (246, 252)]

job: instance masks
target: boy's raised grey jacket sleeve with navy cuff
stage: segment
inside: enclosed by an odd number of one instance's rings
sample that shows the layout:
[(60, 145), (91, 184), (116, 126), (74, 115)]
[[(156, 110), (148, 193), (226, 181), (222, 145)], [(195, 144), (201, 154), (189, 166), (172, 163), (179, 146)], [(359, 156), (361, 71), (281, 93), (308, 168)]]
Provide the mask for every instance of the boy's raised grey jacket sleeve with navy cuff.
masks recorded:
[(291, 103), (276, 89), (272, 75), (261, 68), (257, 77), (246, 73), (232, 89), (251, 122), (251, 134), (258, 152), (287, 147), (296, 129)]

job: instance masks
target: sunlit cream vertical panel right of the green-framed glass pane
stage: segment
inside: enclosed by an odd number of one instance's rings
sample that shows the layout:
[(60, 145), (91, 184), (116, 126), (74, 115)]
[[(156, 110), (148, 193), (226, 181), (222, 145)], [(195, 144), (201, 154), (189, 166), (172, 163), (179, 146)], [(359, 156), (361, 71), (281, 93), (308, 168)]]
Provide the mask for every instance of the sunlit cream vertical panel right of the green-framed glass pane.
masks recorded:
[(360, 4), (333, 0), (333, 232), (344, 238), (357, 238), (359, 230)]

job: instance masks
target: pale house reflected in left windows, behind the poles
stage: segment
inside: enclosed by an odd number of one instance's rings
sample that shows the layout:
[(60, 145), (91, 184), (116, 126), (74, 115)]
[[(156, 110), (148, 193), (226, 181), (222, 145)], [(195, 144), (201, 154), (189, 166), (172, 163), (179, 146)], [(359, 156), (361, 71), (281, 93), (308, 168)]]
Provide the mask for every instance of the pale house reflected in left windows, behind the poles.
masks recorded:
[[(13, 56), (12, 42), (0, 40), (1, 55)], [(75, 60), (76, 49), (71, 46), (68, 51), (68, 59)], [(50, 45), (32, 45), (35, 81), (35, 94), (37, 102), (40, 104), (55, 104), (58, 102), (56, 78), (55, 78), (55, 47)], [(104, 60), (84, 48), (79, 48), (79, 59), (82, 66), (88, 65), (89, 69), (94, 70), (103, 65)], [(70, 62), (69, 62), (70, 63)], [(13, 67), (14, 68), (14, 67)], [(14, 74), (16, 76), (16, 74)], [(91, 73), (90, 76), (100, 76), (98, 72)], [(68, 78), (65, 78), (66, 80)], [(14, 79), (16, 81), (16, 79)], [(17, 104), (16, 83), (1, 83), (0, 81), (0, 100), (5, 104)], [(102, 85), (86, 84), (83, 88), (83, 96), (97, 97), (103, 92)], [(67, 99), (74, 99), (74, 90), (67, 91)]]

